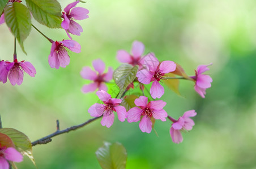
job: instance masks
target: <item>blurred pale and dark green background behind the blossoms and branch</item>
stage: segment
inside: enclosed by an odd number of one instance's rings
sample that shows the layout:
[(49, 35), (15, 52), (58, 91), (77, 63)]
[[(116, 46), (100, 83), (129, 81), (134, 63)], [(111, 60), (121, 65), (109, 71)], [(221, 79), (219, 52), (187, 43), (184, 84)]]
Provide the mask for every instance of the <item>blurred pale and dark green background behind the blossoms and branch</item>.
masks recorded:
[[(64, 8), (72, 1), (60, 2)], [(178, 118), (186, 110), (198, 113), (181, 144), (170, 138), (170, 121), (156, 121), (157, 137), (142, 133), (138, 122), (116, 118), (106, 128), (97, 120), (33, 147), (37, 168), (100, 168), (95, 152), (103, 141), (125, 146), (127, 168), (256, 167), (256, 1), (96, 0), (78, 6), (90, 11), (89, 18), (78, 21), (84, 32), (73, 38), (82, 52), (70, 53), (66, 68), (50, 68), (51, 44), (35, 29), (24, 43), (28, 55), (18, 47), (18, 59), (30, 61), (37, 74), (26, 74), (21, 86), (0, 84), (3, 127), (16, 128), (35, 141), (56, 130), (56, 119), (61, 129), (87, 121), (89, 106), (99, 100), (95, 92), (80, 91), (89, 83), (80, 70), (97, 58), (117, 68), (117, 50), (130, 51), (134, 40), (144, 43), (144, 54), (155, 52), (159, 60), (176, 61), (189, 75), (199, 64), (212, 63), (207, 73), (214, 81), (206, 99), (190, 81), (181, 81), (183, 97), (165, 87), (161, 99), (167, 102), (168, 114)], [(52, 39), (67, 38), (64, 30), (50, 30), (35, 20), (33, 24)], [(11, 60), (14, 38), (5, 24), (0, 32), (0, 58)], [(27, 157), (17, 166), (36, 168)]]

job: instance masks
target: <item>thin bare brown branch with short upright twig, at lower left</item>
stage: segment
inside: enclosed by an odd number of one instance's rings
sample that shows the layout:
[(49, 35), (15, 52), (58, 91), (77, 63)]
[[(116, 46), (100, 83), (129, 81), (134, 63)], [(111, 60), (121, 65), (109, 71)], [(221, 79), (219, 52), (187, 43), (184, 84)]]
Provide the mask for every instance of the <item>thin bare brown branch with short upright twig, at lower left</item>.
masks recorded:
[(69, 128), (66, 128), (65, 130), (59, 130), (59, 121), (57, 120), (56, 121), (57, 122), (57, 131), (56, 132), (54, 132), (53, 134), (50, 134), (48, 136), (42, 137), (39, 140), (33, 141), (31, 144), (32, 144), (32, 146), (35, 146), (37, 144), (47, 144), (47, 143), (50, 143), (50, 141), (52, 141), (52, 137), (57, 136), (57, 135), (61, 135), (61, 134), (66, 133), (66, 132), (70, 132), (72, 130), (76, 130), (76, 129), (81, 128), (83, 126), (86, 126), (86, 124), (89, 124), (89, 123), (91, 123), (91, 122), (93, 122), (96, 119), (101, 118), (101, 117), (102, 116), (91, 118), (91, 119), (89, 119), (88, 121), (86, 121), (86, 122), (84, 122), (82, 124), (78, 124), (76, 126), (71, 126)]

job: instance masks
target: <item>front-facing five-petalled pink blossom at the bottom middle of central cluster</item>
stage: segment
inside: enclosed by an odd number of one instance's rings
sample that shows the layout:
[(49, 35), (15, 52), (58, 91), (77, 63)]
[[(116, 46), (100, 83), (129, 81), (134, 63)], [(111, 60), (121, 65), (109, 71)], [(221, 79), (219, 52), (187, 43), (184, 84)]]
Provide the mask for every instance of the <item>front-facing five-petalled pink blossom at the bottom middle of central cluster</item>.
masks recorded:
[[(139, 128), (142, 132), (150, 133), (152, 130), (151, 118), (160, 119), (161, 121), (166, 121), (168, 116), (167, 112), (163, 109), (166, 103), (162, 100), (150, 101), (145, 96), (140, 96), (134, 101), (136, 106), (131, 108), (127, 112), (127, 122), (139, 122)], [(142, 119), (140, 119), (140, 117)]]

